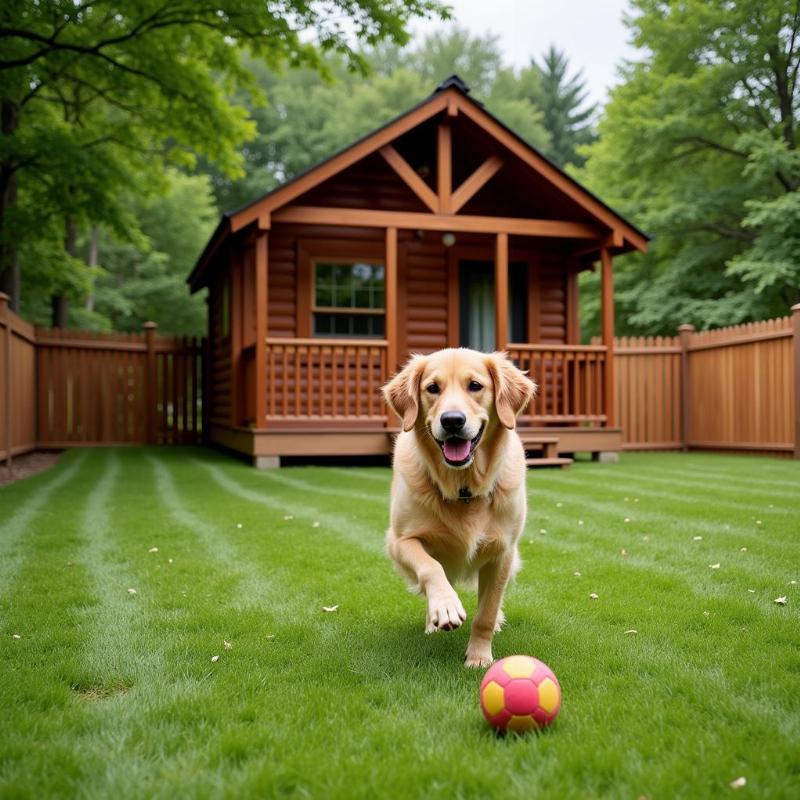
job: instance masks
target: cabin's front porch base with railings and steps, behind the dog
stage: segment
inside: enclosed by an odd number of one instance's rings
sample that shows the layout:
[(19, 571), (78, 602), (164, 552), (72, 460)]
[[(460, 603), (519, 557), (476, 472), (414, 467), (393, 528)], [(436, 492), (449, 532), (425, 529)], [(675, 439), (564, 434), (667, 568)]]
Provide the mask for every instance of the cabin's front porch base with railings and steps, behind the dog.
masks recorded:
[[(564, 454), (620, 449), (621, 432), (607, 413), (606, 345), (509, 343), (506, 350), (539, 385), (518, 422), (532, 459), (565, 465)], [(267, 338), (262, 391), (255, 346), (243, 351), (241, 372), (246, 416), (256, 417), (261, 394), (264, 424), (212, 422), (210, 438), (258, 466), (277, 466), (282, 456), (389, 454), (399, 421), (380, 394), (394, 372), (388, 352), (385, 339)]]

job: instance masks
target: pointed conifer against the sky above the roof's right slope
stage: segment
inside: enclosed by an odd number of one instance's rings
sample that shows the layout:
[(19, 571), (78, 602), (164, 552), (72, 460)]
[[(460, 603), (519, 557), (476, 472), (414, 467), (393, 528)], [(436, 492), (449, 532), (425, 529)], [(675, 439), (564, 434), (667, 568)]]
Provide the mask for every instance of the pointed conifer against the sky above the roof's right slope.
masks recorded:
[(594, 140), (592, 122), (597, 113), (595, 104), (586, 104), (589, 91), (582, 72), (568, 77), (569, 60), (553, 45), (542, 56), (541, 65), (532, 60), (527, 72), (538, 76), (530, 99), (542, 112), (550, 135), (546, 155), (561, 167), (582, 166), (585, 159), (578, 150)]

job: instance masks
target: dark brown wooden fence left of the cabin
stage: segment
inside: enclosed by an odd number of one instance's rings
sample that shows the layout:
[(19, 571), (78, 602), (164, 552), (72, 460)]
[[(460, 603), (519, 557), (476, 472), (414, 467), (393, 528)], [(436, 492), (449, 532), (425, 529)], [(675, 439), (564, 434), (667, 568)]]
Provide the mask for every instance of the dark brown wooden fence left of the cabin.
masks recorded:
[(0, 458), (37, 447), (194, 444), (203, 340), (32, 328), (0, 294)]

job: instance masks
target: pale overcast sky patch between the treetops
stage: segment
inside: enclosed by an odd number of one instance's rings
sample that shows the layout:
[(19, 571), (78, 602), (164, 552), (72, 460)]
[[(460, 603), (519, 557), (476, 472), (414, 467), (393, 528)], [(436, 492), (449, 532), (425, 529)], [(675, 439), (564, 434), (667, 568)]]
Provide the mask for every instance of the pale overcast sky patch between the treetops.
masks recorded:
[[(583, 69), (594, 102), (603, 103), (610, 86), (618, 83), (616, 66), (632, 58), (629, 33), (622, 23), (627, 0), (445, 0), (455, 23), (473, 34), (497, 34), (505, 61), (526, 66), (531, 56), (555, 44), (573, 70)], [(452, 25), (453, 23), (449, 23)], [(415, 35), (446, 27), (418, 22)], [(571, 74), (571, 73), (570, 73)]]

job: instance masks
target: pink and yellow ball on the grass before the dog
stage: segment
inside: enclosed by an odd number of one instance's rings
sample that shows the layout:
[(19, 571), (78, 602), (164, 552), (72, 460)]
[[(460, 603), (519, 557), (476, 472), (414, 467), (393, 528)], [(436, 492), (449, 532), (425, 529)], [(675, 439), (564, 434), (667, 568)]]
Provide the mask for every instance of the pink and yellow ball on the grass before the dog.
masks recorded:
[(561, 686), (547, 664), (531, 656), (496, 661), (481, 681), (481, 710), (501, 731), (544, 728), (561, 708)]

